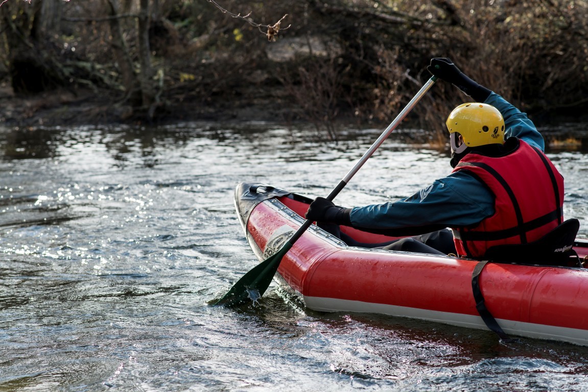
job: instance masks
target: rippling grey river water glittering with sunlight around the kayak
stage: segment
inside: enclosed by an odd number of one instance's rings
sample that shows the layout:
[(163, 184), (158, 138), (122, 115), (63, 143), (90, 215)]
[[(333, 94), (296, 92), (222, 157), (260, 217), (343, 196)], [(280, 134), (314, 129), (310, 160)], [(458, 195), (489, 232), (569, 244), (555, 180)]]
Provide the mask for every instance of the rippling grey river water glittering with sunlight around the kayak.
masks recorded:
[[(544, 132), (586, 238), (582, 129)], [(0, 390), (588, 391), (588, 347), (316, 313), (275, 284), (242, 309), (206, 303), (257, 263), (237, 183), (325, 196), (379, 132), (335, 145), (264, 123), (0, 128)], [(418, 134), (393, 133), (336, 202), (409, 196), (449, 172)]]

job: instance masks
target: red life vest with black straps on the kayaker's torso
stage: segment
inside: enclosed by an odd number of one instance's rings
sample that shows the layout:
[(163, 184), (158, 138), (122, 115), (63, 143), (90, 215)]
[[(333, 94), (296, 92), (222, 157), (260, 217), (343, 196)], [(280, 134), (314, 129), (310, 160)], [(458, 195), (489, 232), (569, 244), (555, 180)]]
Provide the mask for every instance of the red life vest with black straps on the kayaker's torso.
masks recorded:
[(563, 176), (524, 140), (505, 156), (469, 153), (453, 170), (467, 170), (495, 196), (495, 213), (476, 227), (453, 227), (457, 254), (480, 259), (495, 245), (540, 239), (563, 221)]

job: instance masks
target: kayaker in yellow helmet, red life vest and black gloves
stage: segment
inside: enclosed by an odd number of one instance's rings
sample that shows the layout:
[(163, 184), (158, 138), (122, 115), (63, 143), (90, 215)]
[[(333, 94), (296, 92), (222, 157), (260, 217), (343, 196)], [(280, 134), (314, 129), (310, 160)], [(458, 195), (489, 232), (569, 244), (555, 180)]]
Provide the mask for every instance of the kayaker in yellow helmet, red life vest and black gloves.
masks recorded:
[(475, 101), (457, 106), (447, 118), (453, 171), (396, 202), (345, 208), (318, 197), (306, 218), (413, 236), (385, 249), (474, 259), (492, 246), (534, 242), (559, 226), (563, 176), (544, 155), (544, 140), (533, 122), (449, 58), (433, 58), (427, 69)]

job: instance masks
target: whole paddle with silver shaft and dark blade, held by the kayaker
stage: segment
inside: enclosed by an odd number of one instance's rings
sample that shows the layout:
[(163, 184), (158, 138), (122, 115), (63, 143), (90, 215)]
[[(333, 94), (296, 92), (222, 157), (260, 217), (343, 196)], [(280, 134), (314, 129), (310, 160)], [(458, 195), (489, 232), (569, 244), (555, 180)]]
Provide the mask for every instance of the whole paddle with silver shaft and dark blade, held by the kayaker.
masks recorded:
[[(435, 83), (437, 80), (436, 76), (433, 76), (422, 86), (419, 92), (410, 100), (410, 102), (406, 105), (402, 112), (390, 123), (388, 128), (380, 135), (379, 138), (373, 143), (373, 145), (363, 154), (362, 158), (359, 159), (358, 163), (353, 166), (351, 170), (347, 173), (345, 177), (339, 182), (339, 184), (333, 189), (329, 196), (327, 197), (328, 200), (335, 199), (335, 196), (341, 192), (341, 190), (347, 185), (349, 180), (358, 172), (358, 170), (363, 166), (363, 164), (372, 156), (372, 154), (376, 151), (377, 148), (386, 140), (386, 138), (392, 133), (392, 131), (399, 125), (400, 122), (405, 118), (405, 116), (415, 107), (416, 103), (425, 95), (425, 93), (429, 90), (429, 88)], [(273, 256), (268, 257), (267, 259), (263, 260), (263, 262), (259, 263), (257, 266), (253, 267), (248, 273), (243, 275), (241, 279), (238, 280), (237, 283), (230, 288), (229, 292), (226, 293), (221, 299), (214, 302), (213, 305), (225, 305), (225, 306), (236, 306), (239, 304), (246, 303), (248, 301), (255, 301), (259, 299), (265, 293), (265, 290), (268, 289), (269, 284), (272, 283), (273, 276), (275, 275), (276, 271), (278, 271), (278, 267), (280, 262), (282, 261), (283, 257), (288, 253), (288, 251), (292, 248), (293, 244), (302, 237), (302, 234), (306, 232), (312, 225), (312, 220), (307, 219), (302, 226), (290, 237), (290, 239), (276, 252)]]

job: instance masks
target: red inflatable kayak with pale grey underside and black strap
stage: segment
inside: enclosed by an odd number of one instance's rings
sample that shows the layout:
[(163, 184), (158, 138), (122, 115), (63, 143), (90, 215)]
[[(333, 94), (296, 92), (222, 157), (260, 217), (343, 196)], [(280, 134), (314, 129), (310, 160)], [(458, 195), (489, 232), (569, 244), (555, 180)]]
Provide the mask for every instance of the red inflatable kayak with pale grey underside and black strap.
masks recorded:
[[(268, 185), (242, 183), (235, 206), (260, 261), (305, 222), (312, 199)], [(393, 240), (341, 227), (362, 243)], [(588, 346), (588, 242), (576, 240), (577, 267), (487, 262), (477, 285), (490, 318), (510, 336)], [(588, 262), (587, 262), (588, 263)], [(495, 330), (480, 316), (473, 290), (479, 260), (348, 246), (316, 225), (282, 258), (276, 280), (315, 311), (380, 313)], [(496, 330), (495, 330), (496, 331)]]

